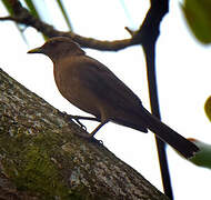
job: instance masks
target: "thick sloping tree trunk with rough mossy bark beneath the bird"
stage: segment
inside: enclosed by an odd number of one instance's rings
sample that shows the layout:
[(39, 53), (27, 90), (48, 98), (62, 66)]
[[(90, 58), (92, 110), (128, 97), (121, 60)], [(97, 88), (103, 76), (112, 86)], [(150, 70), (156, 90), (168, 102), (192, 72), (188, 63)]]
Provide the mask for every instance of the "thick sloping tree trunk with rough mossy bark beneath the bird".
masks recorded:
[(2, 70), (0, 92), (0, 199), (168, 199)]

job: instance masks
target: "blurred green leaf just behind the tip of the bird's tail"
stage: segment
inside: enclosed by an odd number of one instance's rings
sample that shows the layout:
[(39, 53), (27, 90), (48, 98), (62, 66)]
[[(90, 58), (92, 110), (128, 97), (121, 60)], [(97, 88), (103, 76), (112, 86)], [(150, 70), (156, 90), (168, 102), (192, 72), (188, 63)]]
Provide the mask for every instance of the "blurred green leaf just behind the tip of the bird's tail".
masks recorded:
[(199, 167), (211, 169), (211, 144), (195, 139), (189, 140), (200, 148), (200, 151), (193, 158), (191, 158), (190, 161)]

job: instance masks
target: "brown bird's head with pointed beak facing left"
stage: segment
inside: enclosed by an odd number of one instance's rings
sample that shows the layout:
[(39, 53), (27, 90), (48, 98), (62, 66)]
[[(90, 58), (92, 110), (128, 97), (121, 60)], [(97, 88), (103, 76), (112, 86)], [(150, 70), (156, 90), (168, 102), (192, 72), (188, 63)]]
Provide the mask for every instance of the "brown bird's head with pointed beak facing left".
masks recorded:
[(48, 40), (43, 46), (28, 51), (28, 53), (43, 53), (56, 62), (66, 56), (84, 54), (84, 51), (70, 38), (56, 37)]

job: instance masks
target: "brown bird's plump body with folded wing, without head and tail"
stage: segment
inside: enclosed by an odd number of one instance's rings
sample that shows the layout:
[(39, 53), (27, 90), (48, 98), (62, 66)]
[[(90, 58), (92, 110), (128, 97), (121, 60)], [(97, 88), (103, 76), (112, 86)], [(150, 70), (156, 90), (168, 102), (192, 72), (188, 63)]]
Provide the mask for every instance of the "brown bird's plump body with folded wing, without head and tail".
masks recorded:
[(101, 62), (72, 56), (56, 63), (54, 78), (61, 94), (81, 110), (147, 132), (140, 99)]

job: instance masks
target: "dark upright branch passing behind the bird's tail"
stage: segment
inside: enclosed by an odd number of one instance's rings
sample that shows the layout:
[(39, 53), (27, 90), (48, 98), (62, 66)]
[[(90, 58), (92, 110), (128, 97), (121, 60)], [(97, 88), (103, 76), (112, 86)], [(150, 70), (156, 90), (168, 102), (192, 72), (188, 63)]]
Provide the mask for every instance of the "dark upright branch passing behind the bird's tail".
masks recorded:
[[(160, 34), (160, 23), (163, 17), (169, 11), (169, 0), (151, 0), (151, 8), (145, 16), (145, 19), (140, 27), (140, 34), (135, 37), (144, 38), (142, 43), (143, 51), (147, 61), (147, 72), (148, 72), (148, 86), (150, 93), (150, 104), (152, 114), (158, 119), (161, 119), (160, 108), (159, 108), (159, 97), (158, 97), (158, 86), (157, 86), (157, 74), (155, 74), (155, 43)], [(155, 137), (161, 177), (164, 193), (173, 200), (173, 192), (171, 188), (171, 180), (167, 160), (165, 143)]]

